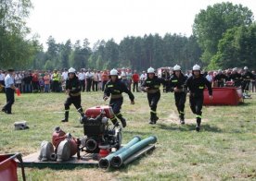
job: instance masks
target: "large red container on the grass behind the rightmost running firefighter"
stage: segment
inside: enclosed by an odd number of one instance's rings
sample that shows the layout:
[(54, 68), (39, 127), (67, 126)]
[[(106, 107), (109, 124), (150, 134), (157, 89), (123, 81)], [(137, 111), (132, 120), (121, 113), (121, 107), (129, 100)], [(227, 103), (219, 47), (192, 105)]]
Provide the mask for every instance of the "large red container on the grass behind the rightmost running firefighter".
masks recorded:
[(243, 103), (241, 88), (212, 88), (212, 97), (209, 99), (208, 90), (204, 90), (204, 105), (237, 105)]

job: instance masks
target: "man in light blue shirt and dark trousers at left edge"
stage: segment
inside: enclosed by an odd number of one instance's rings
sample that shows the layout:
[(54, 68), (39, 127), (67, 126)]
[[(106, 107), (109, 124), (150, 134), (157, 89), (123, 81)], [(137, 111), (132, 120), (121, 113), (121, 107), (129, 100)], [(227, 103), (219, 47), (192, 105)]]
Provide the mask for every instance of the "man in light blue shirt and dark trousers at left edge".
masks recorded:
[(6, 114), (11, 114), (11, 106), (14, 103), (14, 92), (16, 90), (14, 86), (13, 78), (14, 70), (8, 69), (8, 74), (5, 78), (6, 84), (6, 105), (3, 107), (2, 111)]

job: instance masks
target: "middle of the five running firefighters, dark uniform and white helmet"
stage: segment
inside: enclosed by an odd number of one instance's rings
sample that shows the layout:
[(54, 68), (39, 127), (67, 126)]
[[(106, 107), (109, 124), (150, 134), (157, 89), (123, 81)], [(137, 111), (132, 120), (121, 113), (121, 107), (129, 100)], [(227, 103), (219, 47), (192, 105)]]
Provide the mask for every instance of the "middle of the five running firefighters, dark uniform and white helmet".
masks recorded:
[(147, 78), (141, 85), (141, 90), (147, 92), (147, 101), (150, 107), (149, 124), (156, 124), (159, 120), (157, 116), (157, 107), (160, 101), (160, 84), (166, 85), (163, 78), (158, 78), (155, 75), (155, 69), (149, 67), (147, 69)]

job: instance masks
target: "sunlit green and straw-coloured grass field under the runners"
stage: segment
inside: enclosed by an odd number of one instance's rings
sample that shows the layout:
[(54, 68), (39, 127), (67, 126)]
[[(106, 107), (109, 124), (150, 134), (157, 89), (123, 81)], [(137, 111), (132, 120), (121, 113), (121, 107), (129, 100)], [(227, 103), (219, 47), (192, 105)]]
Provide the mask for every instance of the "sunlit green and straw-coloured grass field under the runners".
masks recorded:
[[(106, 104), (102, 92), (83, 93), (83, 108)], [(145, 93), (134, 93), (135, 104), (127, 96), (122, 113), (128, 120), (123, 143), (135, 135), (158, 137), (157, 149), (119, 170), (98, 168), (51, 170), (26, 168), (27, 180), (256, 180), (256, 94), (239, 106), (203, 107), (201, 132), (195, 131), (195, 116), (186, 102), (186, 125), (181, 126), (173, 93), (162, 93), (158, 107), (160, 120), (148, 124), (149, 108)], [(214, 96), (214, 94), (213, 94)], [(0, 113), (0, 153), (39, 150), (42, 140), (50, 140), (60, 126), (74, 137), (83, 136), (78, 113), (70, 109), (70, 122), (64, 115), (62, 93), (22, 94), (16, 97), (13, 115)], [(6, 102), (0, 94), (0, 107)], [(15, 121), (26, 120), (30, 129), (15, 131)], [(20, 176), (20, 173), (19, 173)]]

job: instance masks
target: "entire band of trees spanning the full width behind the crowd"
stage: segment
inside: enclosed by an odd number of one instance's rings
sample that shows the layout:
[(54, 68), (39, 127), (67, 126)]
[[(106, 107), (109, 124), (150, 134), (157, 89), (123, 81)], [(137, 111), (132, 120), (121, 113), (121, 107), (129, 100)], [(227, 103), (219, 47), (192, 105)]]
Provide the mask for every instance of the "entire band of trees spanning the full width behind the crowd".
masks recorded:
[[(127, 36), (117, 43), (88, 39), (56, 42), (50, 36), (47, 49), (36, 36), (28, 39), (26, 18), (31, 0), (1, 0), (0, 67), (16, 69), (75, 68), (109, 69), (174, 66), (189, 69), (199, 64), (207, 69), (250, 66), (256, 68), (256, 25), (250, 9), (232, 3), (218, 3), (196, 15), (193, 34), (146, 34)], [(3, 68), (2, 68), (3, 67)]]

